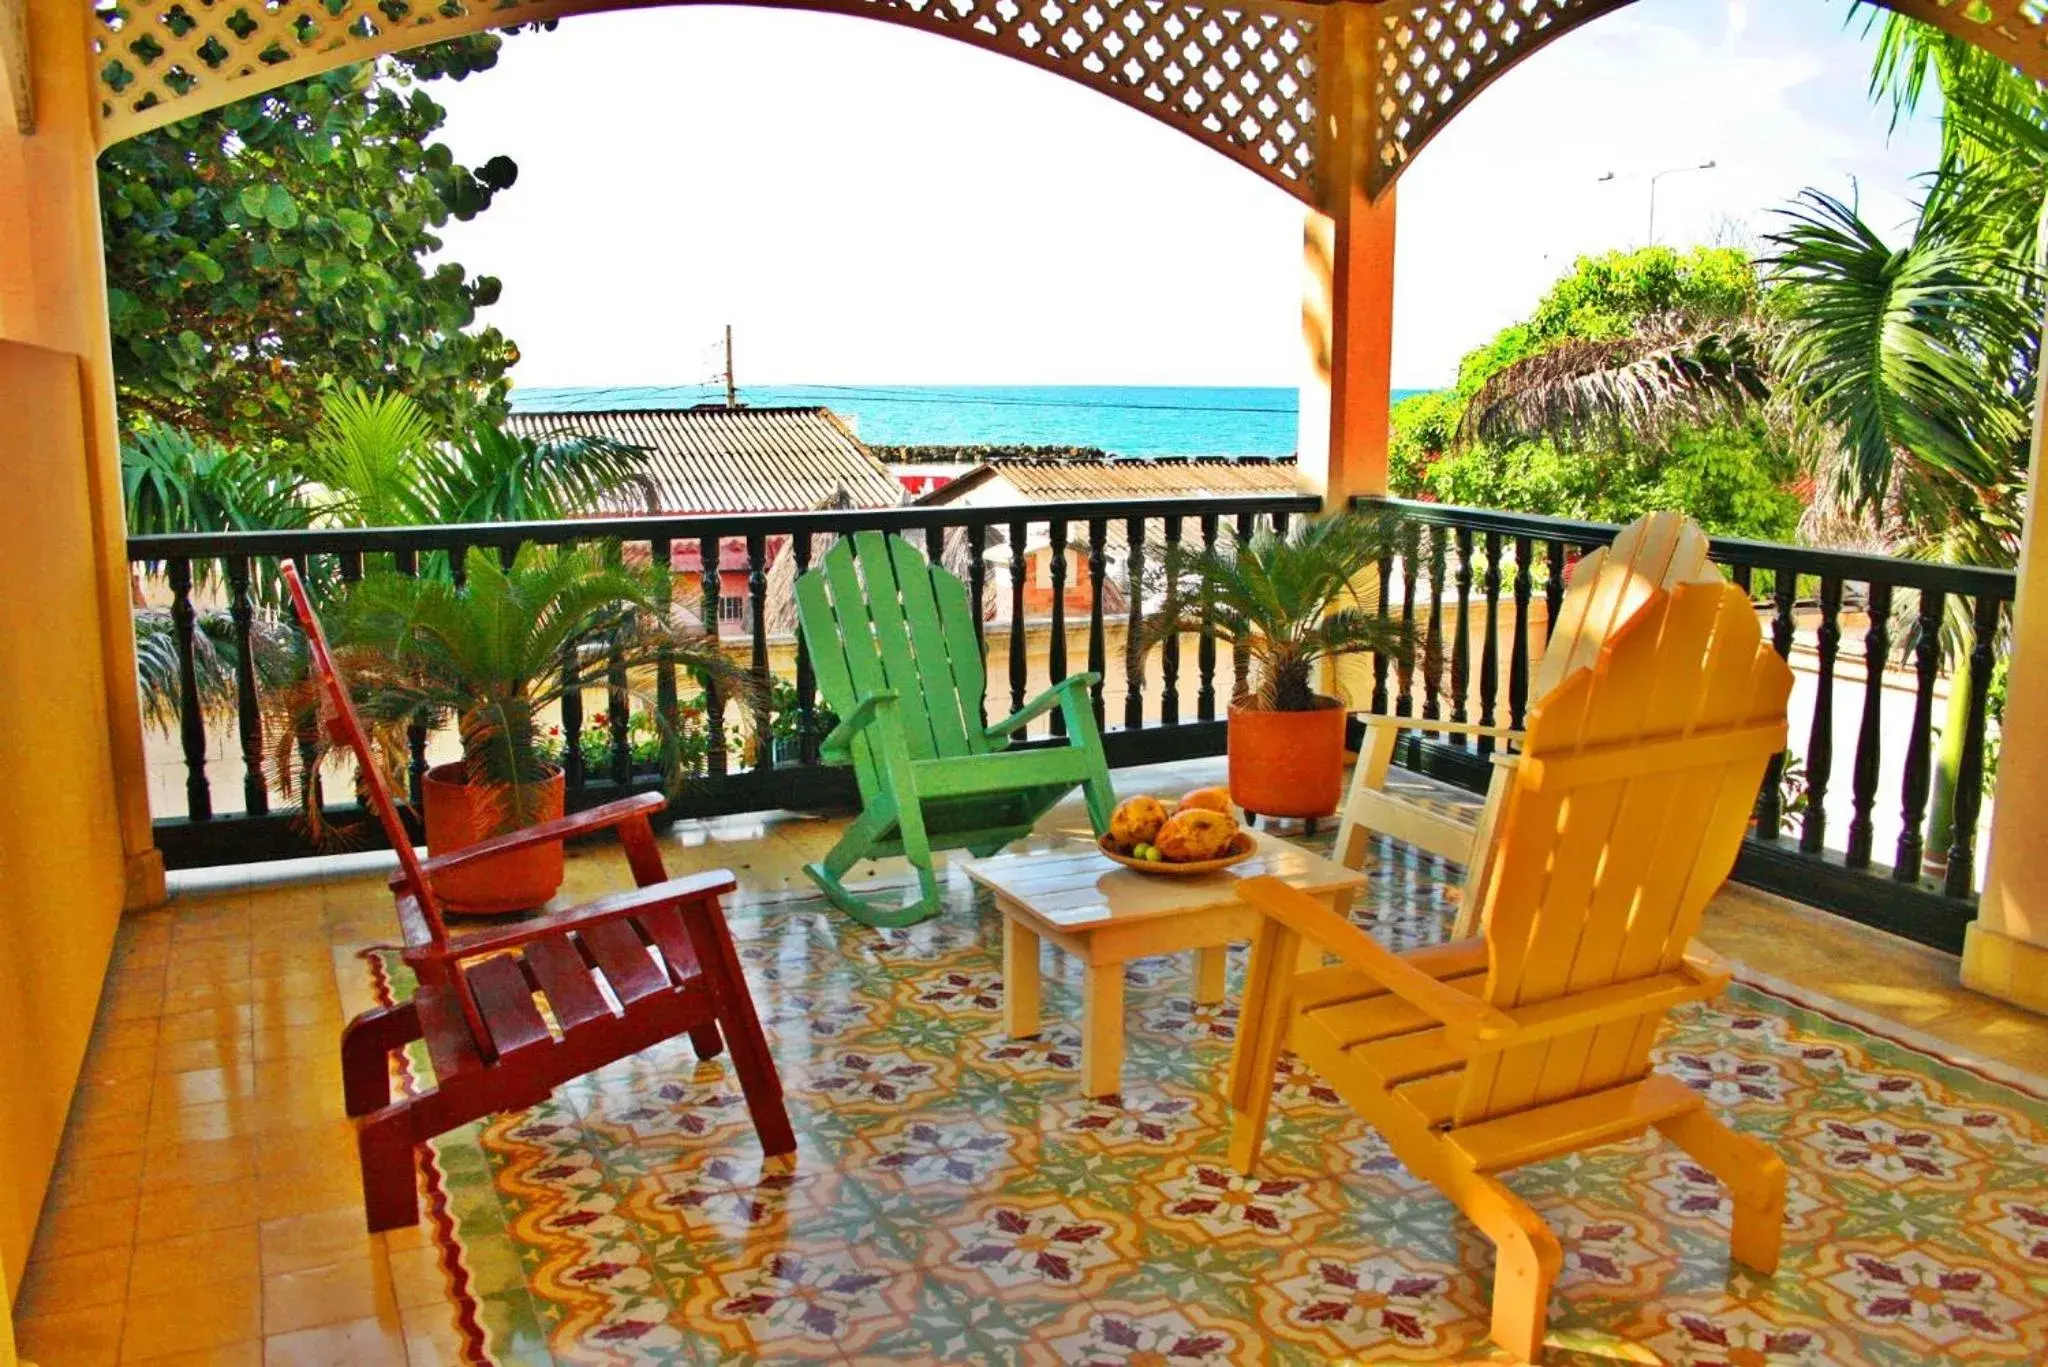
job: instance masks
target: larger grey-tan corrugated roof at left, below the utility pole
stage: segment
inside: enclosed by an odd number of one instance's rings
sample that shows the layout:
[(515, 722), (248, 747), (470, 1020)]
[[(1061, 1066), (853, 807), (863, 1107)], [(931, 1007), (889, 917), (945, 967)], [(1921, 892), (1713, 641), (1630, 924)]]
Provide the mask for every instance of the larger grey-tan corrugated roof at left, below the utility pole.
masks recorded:
[[(827, 408), (635, 408), (506, 418), (520, 437), (610, 437), (653, 453), (653, 512), (893, 508), (903, 486)], [(618, 500), (614, 512), (649, 512)]]

